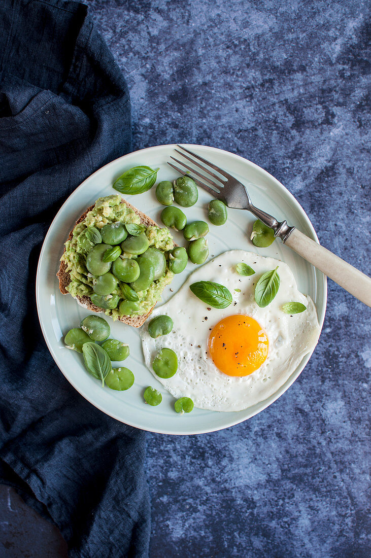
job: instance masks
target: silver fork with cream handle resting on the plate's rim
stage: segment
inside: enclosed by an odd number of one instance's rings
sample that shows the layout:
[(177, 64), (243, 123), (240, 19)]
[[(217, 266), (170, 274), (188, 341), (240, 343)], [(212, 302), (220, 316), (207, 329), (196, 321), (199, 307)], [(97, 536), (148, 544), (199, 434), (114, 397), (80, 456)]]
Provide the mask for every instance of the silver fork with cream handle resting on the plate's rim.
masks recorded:
[[(274, 236), (280, 238), (286, 246), (300, 254), (307, 262), (314, 265), (327, 277), (330, 277), (335, 283), (338, 283), (338, 285), (350, 292), (351, 295), (364, 302), (364, 304), (371, 306), (371, 279), (367, 275), (346, 263), (344, 259), (339, 258), (333, 252), (317, 244), (314, 240), (301, 233), (300, 230), (290, 227), (286, 220), (280, 223), (272, 215), (258, 209), (252, 204), (246, 186), (227, 171), (220, 169), (214, 163), (207, 161), (181, 145), (177, 147), (182, 151), (176, 149), (176, 153), (201, 169), (203, 174), (172, 156), (170, 158), (186, 170), (171, 162), (168, 162), (168, 165), (177, 172), (180, 172), (181, 175), (190, 176), (196, 184), (208, 191), (214, 198), (223, 201), (229, 208), (247, 209), (250, 211), (264, 225), (273, 229)], [(204, 164), (201, 165), (199, 161)], [(209, 168), (206, 168), (205, 165)], [(195, 176), (192, 176), (190, 173)]]

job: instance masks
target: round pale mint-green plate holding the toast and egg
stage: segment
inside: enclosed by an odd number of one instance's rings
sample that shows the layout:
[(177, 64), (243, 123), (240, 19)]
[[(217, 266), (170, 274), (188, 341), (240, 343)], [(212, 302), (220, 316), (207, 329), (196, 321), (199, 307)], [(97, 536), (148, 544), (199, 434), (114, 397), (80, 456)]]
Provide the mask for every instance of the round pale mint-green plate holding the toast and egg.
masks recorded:
[[(143, 430), (163, 434), (201, 434), (238, 424), (268, 407), (295, 381), (308, 362), (310, 354), (303, 358), (300, 366), (276, 393), (257, 405), (244, 411), (230, 413), (195, 408), (189, 415), (180, 416), (174, 411), (174, 398), (163, 389), (160, 382), (157, 382), (145, 367), (136, 328), (131, 328), (118, 321), (114, 323), (109, 319), (111, 336), (125, 341), (130, 346), (131, 354), (125, 360), (124, 365), (134, 373), (133, 387), (125, 392), (103, 389), (98, 380), (89, 376), (85, 371), (81, 354), (66, 349), (63, 343), (67, 331), (79, 326), (81, 319), (89, 312), (79, 306), (71, 296), (60, 294), (56, 278), (62, 247), (68, 233), (74, 227), (75, 220), (100, 196), (115, 194), (116, 191), (112, 188), (113, 181), (131, 167), (138, 165), (160, 167), (157, 175), (159, 180), (174, 179), (177, 175), (166, 162), (170, 155), (174, 155), (175, 147), (174, 145), (148, 147), (120, 157), (89, 176), (70, 195), (52, 222), (41, 249), (36, 277), (36, 300), (42, 333), (52, 357), (68, 381), (90, 403), (115, 419)], [(268, 211), (278, 220), (287, 219), (289, 224), (295, 225), (318, 242), (315, 230), (301, 206), (290, 192), (268, 172), (227, 151), (205, 146), (189, 145), (187, 147), (215, 162), (244, 184), (249, 183), (249, 194), (255, 205)], [(126, 198), (157, 223), (161, 223), (160, 213), (163, 206), (156, 199), (155, 187), (144, 194), (126, 196)], [(207, 220), (207, 205), (210, 199), (211, 196), (208, 193), (199, 189), (197, 204), (184, 209), (187, 219), (189, 221)], [(233, 248), (241, 248), (255, 251), (263, 256), (282, 259), (290, 265), (299, 290), (310, 295), (314, 300), (320, 327), (322, 327), (326, 309), (326, 277), (278, 240), (269, 248), (254, 247), (248, 237), (253, 221), (253, 216), (247, 211), (228, 209), (228, 220), (225, 225), (222, 227), (210, 225), (208, 234), (210, 258)], [(175, 233), (174, 237), (176, 242), (184, 244), (181, 233)], [(172, 295), (170, 287), (176, 292), (192, 270), (194, 270), (194, 265), (189, 263), (183, 273), (175, 276), (174, 281), (163, 293), (164, 302)], [(158, 407), (144, 404), (143, 391), (147, 386), (160, 389), (163, 399)]]

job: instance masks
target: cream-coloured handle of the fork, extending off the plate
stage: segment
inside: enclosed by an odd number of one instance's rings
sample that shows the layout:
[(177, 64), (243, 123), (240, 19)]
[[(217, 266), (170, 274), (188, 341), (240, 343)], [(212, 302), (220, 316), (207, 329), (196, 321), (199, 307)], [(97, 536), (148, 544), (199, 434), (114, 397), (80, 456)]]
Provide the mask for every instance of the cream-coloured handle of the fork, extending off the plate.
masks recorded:
[(293, 229), (285, 245), (325, 273), (340, 287), (345, 288), (351, 295), (371, 306), (371, 279), (362, 271), (344, 262), (344, 259), (335, 256), (300, 230)]

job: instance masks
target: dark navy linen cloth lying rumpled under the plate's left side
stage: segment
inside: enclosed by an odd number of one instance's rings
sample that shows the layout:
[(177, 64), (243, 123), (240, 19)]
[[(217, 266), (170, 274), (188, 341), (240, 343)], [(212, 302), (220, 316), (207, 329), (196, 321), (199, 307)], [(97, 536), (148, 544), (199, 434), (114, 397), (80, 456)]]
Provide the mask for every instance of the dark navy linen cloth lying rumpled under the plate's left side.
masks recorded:
[(70, 386), (35, 303), (56, 211), (131, 149), (127, 85), (84, 4), (2, 0), (0, 29), (2, 480), (56, 523), (70, 556), (147, 556), (144, 434)]

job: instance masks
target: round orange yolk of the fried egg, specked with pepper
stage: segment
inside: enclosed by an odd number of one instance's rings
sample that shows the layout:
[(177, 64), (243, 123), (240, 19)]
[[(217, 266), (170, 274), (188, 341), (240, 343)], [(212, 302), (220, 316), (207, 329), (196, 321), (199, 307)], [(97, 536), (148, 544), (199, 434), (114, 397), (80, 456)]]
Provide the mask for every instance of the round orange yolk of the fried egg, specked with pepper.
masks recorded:
[(250, 316), (228, 316), (210, 332), (209, 352), (220, 372), (228, 376), (248, 376), (268, 355), (268, 337)]

